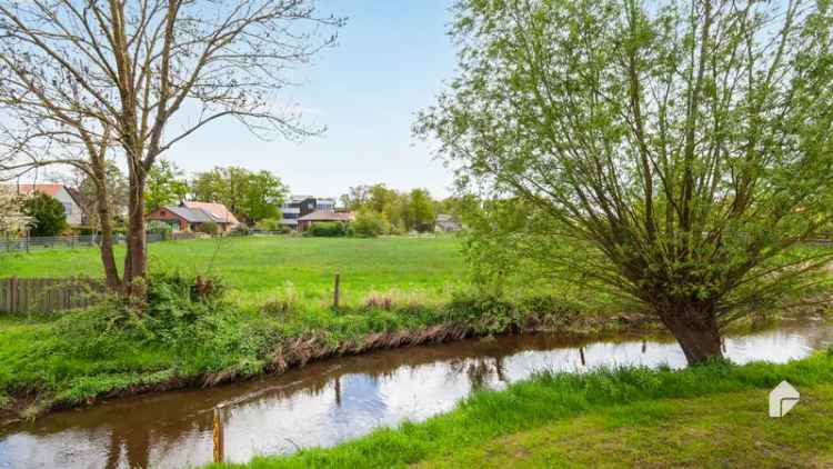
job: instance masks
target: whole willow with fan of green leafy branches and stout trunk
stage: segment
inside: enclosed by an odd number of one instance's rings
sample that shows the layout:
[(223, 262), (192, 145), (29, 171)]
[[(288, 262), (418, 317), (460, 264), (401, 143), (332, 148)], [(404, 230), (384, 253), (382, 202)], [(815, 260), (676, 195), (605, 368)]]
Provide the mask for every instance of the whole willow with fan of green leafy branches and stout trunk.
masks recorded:
[(827, 255), (829, 1), (463, 0), (459, 73), (416, 130), (461, 186), (553, 220), (568, 263), (646, 306), (689, 362)]

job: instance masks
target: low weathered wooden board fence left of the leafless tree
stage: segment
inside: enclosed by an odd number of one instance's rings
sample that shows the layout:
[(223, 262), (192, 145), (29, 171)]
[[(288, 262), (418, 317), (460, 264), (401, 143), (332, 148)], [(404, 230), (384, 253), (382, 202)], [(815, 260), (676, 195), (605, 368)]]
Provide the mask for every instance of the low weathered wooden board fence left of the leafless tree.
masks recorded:
[(103, 283), (93, 279), (0, 279), (0, 315), (84, 308), (103, 289)]

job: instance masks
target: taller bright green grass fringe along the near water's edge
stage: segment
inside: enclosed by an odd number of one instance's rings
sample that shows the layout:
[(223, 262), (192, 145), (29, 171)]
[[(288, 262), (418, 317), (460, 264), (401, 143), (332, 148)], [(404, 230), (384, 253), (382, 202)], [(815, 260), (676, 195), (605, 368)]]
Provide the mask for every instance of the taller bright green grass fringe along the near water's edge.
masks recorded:
[[(769, 390), (781, 380), (789, 380), (800, 389), (833, 383), (833, 348), (827, 352), (819, 352), (786, 365), (756, 362), (734, 366), (713, 362), (683, 370), (623, 368), (583, 375), (543, 373), (514, 383), (503, 391), (478, 391), (462, 401), (455, 410), (430, 418), (422, 423), (407, 422), (395, 429), (380, 429), (364, 438), (330, 449), (308, 449), (290, 457), (261, 457), (253, 459), (249, 465), (222, 467), (407, 467), (438, 458), (465, 455), (469, 448), (484, 445), (488, 448), (483, 451), (495, 453), (505, 445), (505, 441), (492, 441), (495, 438), (565, 421), (575, 416), (615, 408), (620, 410), (619, 421), (626, 422), (625, 426), (629, 428), (639, 427), (652, 419), (662, 419), (660, 408), (669, 413), (669, 410), (684, 406), (681, 402), (663, 400), (695, 399), (724, 393), (715, 398), (715, 402), (732, 402), (736, 400), (735, 396), (739, 392), (752, 389)], [(646, 405), (633, 411), (623, 407), (639, 402)], [(761, 420), (766, 419), (765, 392), (756, 397), (756, 403), (755, 415)], [(694, 407), (696, 408), (696, 402)], [(700, 413), (706, 413), (707, 410), (702, 409)], [(691, 415), (691, 411), (688, 411), (688, 415)], [(716, 418), (715, 426), (723, 432), (731, 433), (733, 425), (741, 425), (737, 416), (725, 415)], [(615, 412), (603, 415), (602, 420), (605, 431), (612, 431), (618, 426)], [(662, 423), (668, 428), (673, 423), (673, 419)], [(799, 423), (800, 427), (802, 425), (809, 428), (807, 425)], [(704, 429), (701, 428), (699, 431), (703, 433)], [(552, 440), (554, 436), (550, 433), (549, 439), (538, 441), (534, 448), (546, 446)], [(779, 443), (782, 450), (786, 450), (784, 445), (787, 441)], [(650, 441), (646, 442), (646, 447), (651, 448)], [(595, 450), (583, 448), (590, 452), (598, 452), (600, 449), (601, 447)], [(478, 455), (478, 451), (471, 453)], [(508, 460), (518, 462), (519, 458), (524, 456), (526, 455), (512, 453)], [(599, 457), (599, 463), (616, 466), (616, 455), (602, 452)], [(749, 463), (755, 456), (745, 453), (741, 455), (741, 459)], [(463, 466), (479, 467), (478, 460), (470, 458), (458, 458), (443, 467)]]

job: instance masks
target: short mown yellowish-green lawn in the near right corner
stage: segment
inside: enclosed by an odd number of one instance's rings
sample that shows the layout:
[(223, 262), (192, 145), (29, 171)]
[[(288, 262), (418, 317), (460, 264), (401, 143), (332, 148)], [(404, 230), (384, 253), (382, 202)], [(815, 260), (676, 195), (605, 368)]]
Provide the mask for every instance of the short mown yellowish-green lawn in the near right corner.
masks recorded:
[(663, 399), (590, 412), (432, 458), (416, 468), (830, 468), (833, 386), (782, 419), (767, 390)]

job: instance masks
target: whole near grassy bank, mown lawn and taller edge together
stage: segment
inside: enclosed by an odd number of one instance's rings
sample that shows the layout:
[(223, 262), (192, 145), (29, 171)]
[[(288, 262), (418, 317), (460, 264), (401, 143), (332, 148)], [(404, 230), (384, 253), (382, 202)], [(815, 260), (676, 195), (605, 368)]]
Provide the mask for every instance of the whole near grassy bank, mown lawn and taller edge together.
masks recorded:
[[(767, 417), (781, 380), (802, 391)], [(827, 467), (833, 351), (786, 365), (542, 375), (422, 423), (330, 449), (211, 468)]]

